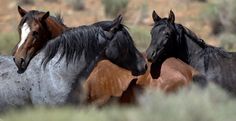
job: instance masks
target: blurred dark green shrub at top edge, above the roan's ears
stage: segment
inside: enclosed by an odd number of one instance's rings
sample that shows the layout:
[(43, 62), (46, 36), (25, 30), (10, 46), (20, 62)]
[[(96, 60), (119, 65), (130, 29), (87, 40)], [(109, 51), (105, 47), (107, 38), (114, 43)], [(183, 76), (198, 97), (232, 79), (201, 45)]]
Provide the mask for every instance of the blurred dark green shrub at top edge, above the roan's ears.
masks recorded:
[(115, 17), (125, 13), (129, 0), (102, 0), (107, 16)]

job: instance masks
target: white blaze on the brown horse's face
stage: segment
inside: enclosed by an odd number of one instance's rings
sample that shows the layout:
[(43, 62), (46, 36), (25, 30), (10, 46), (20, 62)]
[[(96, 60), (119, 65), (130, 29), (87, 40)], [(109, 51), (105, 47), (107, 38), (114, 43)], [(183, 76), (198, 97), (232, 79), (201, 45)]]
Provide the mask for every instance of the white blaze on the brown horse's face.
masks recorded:
[(27, 39), (29, 33), (30, 33), (30, 27), (27, 23), (24, 23), (21, 28), (21, 40), (20, 43), (18, 44), (18, 48), (20, 48), (25, 43), (25, 40)]

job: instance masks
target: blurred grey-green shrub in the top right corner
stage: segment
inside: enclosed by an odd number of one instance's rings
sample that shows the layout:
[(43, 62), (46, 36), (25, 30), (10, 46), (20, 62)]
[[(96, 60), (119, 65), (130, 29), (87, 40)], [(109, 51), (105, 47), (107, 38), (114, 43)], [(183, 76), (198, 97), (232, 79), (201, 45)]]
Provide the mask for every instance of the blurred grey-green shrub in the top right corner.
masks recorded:
[(211, 23), (214, 34), (223, 31), (236, 32), (236, 1), (235, 0), (215, 0), (210, 1), (207, 9), (203, 11), (204, 18)]

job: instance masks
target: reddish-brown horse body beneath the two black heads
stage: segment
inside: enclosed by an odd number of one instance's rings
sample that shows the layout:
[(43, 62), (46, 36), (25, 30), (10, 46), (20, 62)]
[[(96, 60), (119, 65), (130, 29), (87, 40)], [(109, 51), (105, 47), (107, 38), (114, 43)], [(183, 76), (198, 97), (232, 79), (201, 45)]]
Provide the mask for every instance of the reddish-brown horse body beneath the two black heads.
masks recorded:
[(102, 105), (111, 97), (118, 97), (120, 103), (135, 103), (144, 88), (175, 92), (178, 88), (189, 85), (198, 74), (191, 66), (176, 58), (168, 58), (162, 63), (157, 79), (152, 78), (150, 69), (149, 63), (144, 75), (134, 77), (128, 70), (108, 60), (99, 62), (84, 85), (88, 92), (88, 102)]

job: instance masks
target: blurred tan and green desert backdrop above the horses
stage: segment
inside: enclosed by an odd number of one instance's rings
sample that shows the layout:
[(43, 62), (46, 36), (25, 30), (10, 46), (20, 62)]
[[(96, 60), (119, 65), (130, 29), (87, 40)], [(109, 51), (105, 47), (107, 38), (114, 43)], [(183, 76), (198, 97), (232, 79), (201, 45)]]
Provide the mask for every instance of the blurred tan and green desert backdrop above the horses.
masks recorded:
[(235, 0), (1, 0), (0, 54), (10, 54), (19, 41), (17, 5), (26, 10), (50, 11), (51, 15), (60, 13), (70, 27), (111, 20), (121, 13), (141, 51), (150, 41), (152, 11), (167, 17), (172, 9), (177, 23), (207, 43), (236, 50)]

